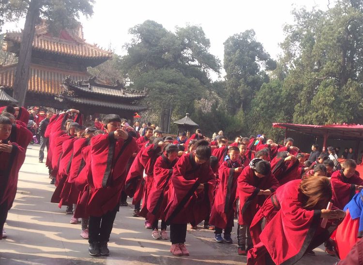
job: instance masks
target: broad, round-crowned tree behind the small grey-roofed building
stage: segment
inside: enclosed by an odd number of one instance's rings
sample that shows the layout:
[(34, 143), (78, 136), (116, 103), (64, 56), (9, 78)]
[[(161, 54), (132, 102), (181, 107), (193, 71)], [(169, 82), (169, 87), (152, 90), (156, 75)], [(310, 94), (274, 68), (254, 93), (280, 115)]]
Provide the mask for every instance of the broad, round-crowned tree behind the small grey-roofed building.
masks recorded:
[(129, 32), (134, 38), (121, 59), (124, 77), (136, 89), (148, 89), (146, 100), (161, 114), (159, 125), (167, 130), (170, 112), (180, 117), (193, 112), (194, 100), (206, 93), (209, 73), (219, 73), (220, 62), (209, 53), (210, 41), (198, 26), (171, 32), (146, 20)]

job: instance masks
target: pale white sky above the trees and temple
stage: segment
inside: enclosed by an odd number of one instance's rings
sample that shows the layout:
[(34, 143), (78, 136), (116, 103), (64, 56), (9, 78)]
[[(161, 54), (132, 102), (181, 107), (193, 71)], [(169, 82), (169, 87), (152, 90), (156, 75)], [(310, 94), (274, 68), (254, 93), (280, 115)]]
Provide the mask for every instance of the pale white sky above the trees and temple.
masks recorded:
[[(294, 22), (291, 11), (303, 6), (326, 10), (327, 4), (328, 0), (95, 0), (93, 16), (81, 17), (81, 23), (88, 43), (111, 47), (120, 55), (126, 54), (123, 46), (132, 38), (128, 30), (145, 20), (154, 20), (169, 31), (198, 25), (211, 41), (210, 52), (222, 63), (227, 38), (253, 29), (257, 41), (276, 59), (281, 53), (279, 43), (285, 38), (283, 27)], [(3, 30), (23, 25), (24, 20), (7, 23)]]

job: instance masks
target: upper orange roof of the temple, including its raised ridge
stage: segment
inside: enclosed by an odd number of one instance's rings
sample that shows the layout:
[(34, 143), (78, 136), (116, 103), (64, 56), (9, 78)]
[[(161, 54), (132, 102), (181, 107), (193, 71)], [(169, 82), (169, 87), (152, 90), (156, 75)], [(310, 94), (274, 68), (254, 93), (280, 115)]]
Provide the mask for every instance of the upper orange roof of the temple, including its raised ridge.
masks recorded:
[[(6, 43), (4, 50), (16, 53), (18, 48), (14, 46), (17, 44), (20, 47), (22, 35), (22, 31), (7, 32), (4, 36), (4, 42)], [(59, 36), (51, 34), (44, 22), (37, 25), (33, 40), (33, 49), (83, 59), (104, 59), (106, 61), (112, 57), (111, 51), (85, 42), (80, 25), (73, 31), (61, 30)]]

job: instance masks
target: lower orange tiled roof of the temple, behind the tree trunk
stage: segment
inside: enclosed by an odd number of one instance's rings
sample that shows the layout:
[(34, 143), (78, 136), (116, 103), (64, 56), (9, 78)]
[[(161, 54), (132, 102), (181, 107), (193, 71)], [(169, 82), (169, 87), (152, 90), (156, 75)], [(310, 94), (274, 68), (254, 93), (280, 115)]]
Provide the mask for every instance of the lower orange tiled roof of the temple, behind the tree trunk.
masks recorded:
[[(16, 63), (0, 66), (0, 86), (13, 87)], [(70, 76), (73, 80), (87, 79), (87, 72), (60, 70), (38, 64), (30, 65), (28, 91), (45, 94), (61, 94), (63, 79)]]

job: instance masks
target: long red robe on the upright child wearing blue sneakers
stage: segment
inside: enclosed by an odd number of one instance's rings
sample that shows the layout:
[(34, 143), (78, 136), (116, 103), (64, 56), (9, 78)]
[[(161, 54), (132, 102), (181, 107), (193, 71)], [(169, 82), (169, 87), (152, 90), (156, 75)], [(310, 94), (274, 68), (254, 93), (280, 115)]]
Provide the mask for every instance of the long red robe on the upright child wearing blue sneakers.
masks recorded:
[(209, 219), (209, 223), (218, 228), (225, 229), (226, 227), (233, 226), (233, 204), (236, 199), (237, 179), (240, 174), (234, 170), (241, 166), (240, 163), (233, 163), (229, 159), (219, 167), (219, 185), (216, 188), (211, 217)]

